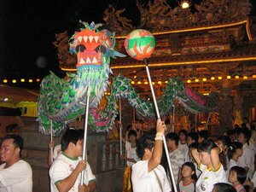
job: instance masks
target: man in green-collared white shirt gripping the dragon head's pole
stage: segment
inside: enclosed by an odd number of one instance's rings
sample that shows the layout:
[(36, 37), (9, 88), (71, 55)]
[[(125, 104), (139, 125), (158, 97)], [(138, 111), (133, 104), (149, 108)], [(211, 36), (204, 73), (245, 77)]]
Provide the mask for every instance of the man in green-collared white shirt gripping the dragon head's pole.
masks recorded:
[[(96, 189), (96, 177), (91, 172), (88, 162), (81, 158), (83, 133), (82, 130), (67, 130), (61, 138), (62, 153), (49, 168), (52, 192), (92, 192)], [(84, 184), (80, 185), (82, 171), (84, 171)]]

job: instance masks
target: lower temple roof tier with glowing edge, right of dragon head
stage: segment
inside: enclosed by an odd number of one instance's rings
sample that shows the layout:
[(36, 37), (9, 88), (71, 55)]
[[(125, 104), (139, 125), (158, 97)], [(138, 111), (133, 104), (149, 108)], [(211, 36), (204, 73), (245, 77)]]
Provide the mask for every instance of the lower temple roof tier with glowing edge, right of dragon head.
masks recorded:
[[(243, 61), (256, 61), (256, 44), (235, 46), (230, 51), (151, 57), (148, 59), (148, 65), (151, 67), (163, 67)], [(144, 67), (144, 63), (131, 57), (112, 60), (111, 63), (112, 69), (135, 67)]]

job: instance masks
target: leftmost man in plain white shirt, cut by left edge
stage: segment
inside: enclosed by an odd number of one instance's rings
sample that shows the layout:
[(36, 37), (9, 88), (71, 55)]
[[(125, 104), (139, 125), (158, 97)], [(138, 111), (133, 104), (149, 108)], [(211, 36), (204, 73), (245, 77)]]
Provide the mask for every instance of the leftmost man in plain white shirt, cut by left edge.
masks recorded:
[(3, 137), (0, 157), (0, 191), (32, 192), (32, 168), (24, 160), (20, 160), (23, 138), (9, 134)]

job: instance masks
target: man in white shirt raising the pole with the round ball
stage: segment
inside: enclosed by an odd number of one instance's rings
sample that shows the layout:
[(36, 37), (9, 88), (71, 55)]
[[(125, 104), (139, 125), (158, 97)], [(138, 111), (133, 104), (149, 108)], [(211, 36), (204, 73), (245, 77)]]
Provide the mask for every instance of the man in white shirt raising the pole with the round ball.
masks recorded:
[(163, 152), (163, 136), (166, 125), (157, 121), (156, 135), (144, 135), (137, 145), (137, 154), (142, 160), (132, 166), (131, 182), (133, 192), (170, 192), (166, 171), (160, 166)]

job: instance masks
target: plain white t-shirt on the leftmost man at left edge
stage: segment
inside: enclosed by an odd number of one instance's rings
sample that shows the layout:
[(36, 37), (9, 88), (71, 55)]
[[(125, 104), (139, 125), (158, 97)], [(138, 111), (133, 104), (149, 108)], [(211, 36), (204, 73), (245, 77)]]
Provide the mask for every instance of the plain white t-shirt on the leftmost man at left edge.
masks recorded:
[(32, 168), (24, 160), (19, 160), (13, 166), (4, 169), (0, 166), (1, 192), (32, 192)]

